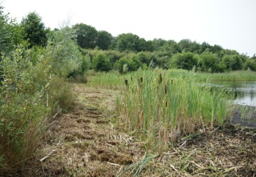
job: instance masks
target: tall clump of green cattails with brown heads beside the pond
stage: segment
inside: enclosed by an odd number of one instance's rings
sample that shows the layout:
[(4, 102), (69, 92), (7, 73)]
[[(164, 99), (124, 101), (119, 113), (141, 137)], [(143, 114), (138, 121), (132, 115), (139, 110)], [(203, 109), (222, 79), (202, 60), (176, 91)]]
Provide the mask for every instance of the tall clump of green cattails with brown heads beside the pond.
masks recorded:
[(192, 77), (164, 74), (155, 70), (129, 76), (117, 97), (124, 129), (160, 153), (179, 137), (223, 125), (228, 113), (221, 91), (202, 88)]

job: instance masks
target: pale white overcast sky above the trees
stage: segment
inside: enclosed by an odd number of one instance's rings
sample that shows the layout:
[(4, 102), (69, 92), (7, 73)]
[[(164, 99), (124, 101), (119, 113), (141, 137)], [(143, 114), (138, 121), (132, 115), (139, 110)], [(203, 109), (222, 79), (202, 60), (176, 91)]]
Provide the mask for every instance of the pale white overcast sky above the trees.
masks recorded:
[(189, 39), (250, 57), (256, 54), (255, 0), (0, 0), (0, 4), (18, 22), (36, 11), (51, 29), (69, 21), (113, 36)]

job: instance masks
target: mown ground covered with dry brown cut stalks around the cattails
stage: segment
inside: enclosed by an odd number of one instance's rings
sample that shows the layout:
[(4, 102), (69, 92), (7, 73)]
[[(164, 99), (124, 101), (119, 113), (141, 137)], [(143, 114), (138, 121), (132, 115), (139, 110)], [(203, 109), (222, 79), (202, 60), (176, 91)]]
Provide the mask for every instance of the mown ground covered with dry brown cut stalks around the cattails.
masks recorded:
[(255, 129), (201, 132), (156, 154), (115, 122), (117, 91), (73, 91), (74, 108), (50, 123), (31, 176), (256, 176)]

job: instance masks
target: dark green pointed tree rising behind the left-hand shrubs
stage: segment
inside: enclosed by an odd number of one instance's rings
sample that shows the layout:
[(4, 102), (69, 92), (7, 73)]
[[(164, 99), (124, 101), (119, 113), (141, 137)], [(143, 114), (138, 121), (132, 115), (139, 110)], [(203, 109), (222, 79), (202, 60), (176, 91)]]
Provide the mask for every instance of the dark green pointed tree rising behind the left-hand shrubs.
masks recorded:
[(28, 16), (22, 19), (21, 26), (24, 30), (24, 39), (30, 43), (29, 47), (35, 45), (46, 46), (47, 30), (41, 17), (36, 12), (28, 13)]

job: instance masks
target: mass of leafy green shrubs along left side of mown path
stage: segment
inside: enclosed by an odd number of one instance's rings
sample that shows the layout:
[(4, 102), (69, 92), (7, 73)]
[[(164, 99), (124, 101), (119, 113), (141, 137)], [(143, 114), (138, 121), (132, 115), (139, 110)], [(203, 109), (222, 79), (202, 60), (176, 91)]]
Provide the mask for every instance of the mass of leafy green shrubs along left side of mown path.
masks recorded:
[[(73, 95), (66, 76), (87, 69), (87, 59), (72, 40), (68, 28), (55, 32), (46, 48), (18, 47), (1, 57), (0, 176), (23, 173), (46, 129), (46, 122), (68, 110)], [(82, 68), (84, 67), (84, 68)]]

